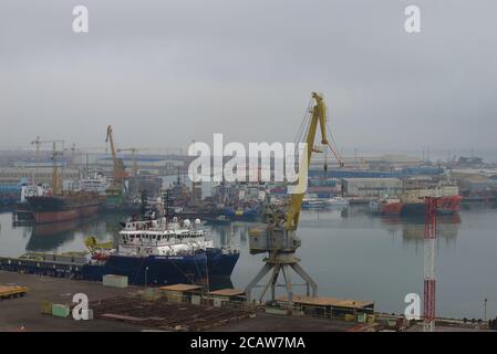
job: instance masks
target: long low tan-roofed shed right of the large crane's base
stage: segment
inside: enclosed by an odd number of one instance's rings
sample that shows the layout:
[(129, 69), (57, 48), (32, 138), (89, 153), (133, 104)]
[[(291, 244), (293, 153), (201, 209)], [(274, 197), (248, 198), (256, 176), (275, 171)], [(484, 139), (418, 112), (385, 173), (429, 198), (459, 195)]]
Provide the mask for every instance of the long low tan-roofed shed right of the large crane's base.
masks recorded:
[[(288, 302), (287, 296), (277, 299), (279, 302)], [(312, 298), (293, 295), (293, 304), (304, 313), (324, 317), (344, 317), (345, 315), (373, 314), (374, 302), (343, 300), (335, 298)]]

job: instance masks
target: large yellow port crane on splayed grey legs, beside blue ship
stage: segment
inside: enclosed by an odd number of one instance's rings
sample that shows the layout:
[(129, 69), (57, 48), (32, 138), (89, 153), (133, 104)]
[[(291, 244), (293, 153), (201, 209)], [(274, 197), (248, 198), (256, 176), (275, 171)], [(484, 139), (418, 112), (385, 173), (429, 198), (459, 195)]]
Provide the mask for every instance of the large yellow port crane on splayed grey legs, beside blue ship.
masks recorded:
[[(250, 253), (268, 253), (265, 258), (265, 266), (253, 280), (245, 289), (247, 301), (250, 302), (251, 290), (258, 287), (259, 281), (265, 278), (266, 274), (271, 273), (269, 281), (263, 287), (263, 291), (260, 294), (259, 301), (262, 301), (266, 292), (271, 288), (271, 301), (275, 302), (276, 285), (280, 272), (283, 274), (284, 287), (288, 293), (288, 302), (292, 304), (292, 283), (290, 280), (289, 271), (292, 269), (299, 274), (306, 282), (307, 295), (310, 295), (312, 290), (312, 296), (318, 294), (318, 284), (312, 278), (300, 267), (300, 259), (296, 257), (296, 250), (300, 247), (301, 241), (296, 235), (296, 230), (299, 225), (300, 210), (302, 208), (302, 199), (306, 194), (307, 178), (309, 173), (309, 165), (313, 153), (322, 153), (314, 146), (315, 134), (318, 125), (321, 131), (321, 144), (328, 146), (336, 157), (339, 165), (344, 166), (343, 160), (338, 155), (335, 148), (332, 147), (328, 139), (327, 129), (327, 107), (323, 96), (315, 92), (312, 93), (312, 100), (314, 102), (310, 110), (310, 118), (307, 127), (306, 136), (306, 150), (302, 156), (302, 164), (300, 164), (299, 170), (299, 185), (291, 192), (288, 210), (284, 211), (278, 207), (268, 206), (265, 212), (266, 225), (263, 228), (257, 228), (249, 231), (249, 250)], [(307, 116), (308, 117), (308, 116)], [(306, 118), (307, 118), (306, 117)], [(307, 121), (307, 119), (304, 119)], [(331, 136), (331, 134), (330, 134)]]

